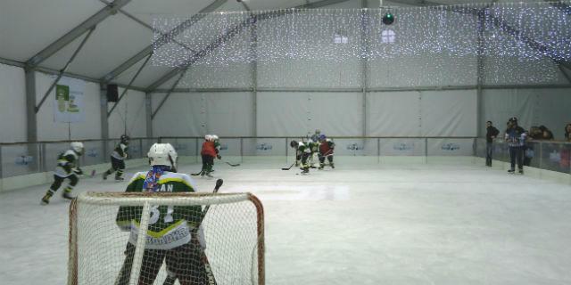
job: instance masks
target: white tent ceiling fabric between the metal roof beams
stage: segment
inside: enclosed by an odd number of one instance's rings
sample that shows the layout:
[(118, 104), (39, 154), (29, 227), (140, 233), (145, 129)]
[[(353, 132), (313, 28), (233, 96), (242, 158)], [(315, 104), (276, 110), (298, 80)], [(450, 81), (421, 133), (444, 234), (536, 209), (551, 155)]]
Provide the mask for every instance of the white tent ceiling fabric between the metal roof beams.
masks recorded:
[[(0, 1), (0, 60), (12, 62), (29, 61), (84, 20), (102, 11), (112, 0), (1, 0)], [(377, 0), (365, 0), (368, 7), (379, 6)], [(465, 4), (489, 0), (434, 0), (438, 4)], [(424, 0), (384, 1), (384, 5), (434, 4)], [(508, 2), (508, 1), (501, 1)], [(526, 1), (527, 2), (527, 1)], [(529, 1), (531, 2), (531, 1)], [(200, 12), (213, 3), (221, 3), (216, 11), (270, 10), (290, 8), (302, 4), (326, 3), (334, 8), (359, 8), (361, 0), (131, 0), (101, 21), (95, 28), (78, 57), (70, 64), (67, 72), (95, 80), (102, 78), (137, 53), (149, 46), (153, 39), (153, 15), (187, 17)], [(245, 5), (244, 5), (245, 4)], [(195, 25), (193, 28), (200, 28)], [(70, 59), (87, 33), (64, 45), (57, 53), (49, 56), (40, 67), (59, 70)], [(200, 48), (190, 46), (190, 48)], [(146, 57), (121, 72), (114, 81), (127, 85), (136, 74)], [(170, 69), (148, 64), (141, 72), (134, 86), (145, 88)]]

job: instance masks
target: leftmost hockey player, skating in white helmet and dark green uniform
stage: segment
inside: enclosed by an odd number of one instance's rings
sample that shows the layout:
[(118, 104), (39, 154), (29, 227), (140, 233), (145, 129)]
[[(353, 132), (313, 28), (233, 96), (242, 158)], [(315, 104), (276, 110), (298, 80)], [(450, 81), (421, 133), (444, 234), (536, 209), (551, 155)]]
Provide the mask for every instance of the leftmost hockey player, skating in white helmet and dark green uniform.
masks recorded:
[(55, 167), (54, 172), (54, 183), (52, 183), (50, 189), (46, 191), (46, 195), (42, 198), (42, 205), (49, 204), (50, 198), (52, 198), (54, 192), (62, 186), (62, 182), (66, 178), (70, 179), (70, 183), (63, 188), (62, 197), (65, 199), (73, 199), (71, 191), (79, 182), (78, 175), (83, 175), (83, 171), (79, 167), (79, 157), (83, 155), (83, 151), (84, 148), (82, 142), (71, 142), (70, 150), (60, 153), (57, 157), (57, 167)]

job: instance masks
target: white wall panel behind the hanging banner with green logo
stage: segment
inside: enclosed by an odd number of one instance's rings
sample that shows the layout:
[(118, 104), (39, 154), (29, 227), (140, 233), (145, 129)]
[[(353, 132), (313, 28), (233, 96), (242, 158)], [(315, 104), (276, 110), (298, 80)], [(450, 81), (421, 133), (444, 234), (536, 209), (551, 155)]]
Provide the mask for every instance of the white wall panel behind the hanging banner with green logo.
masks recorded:
[[(36, 101), (39, 103), (49, 86), (54, 82), (54, 75), (36, 73)], [(100, 94), (99, 85), (86, 82), (83, 93), (86, 120), (82, 123), (71, 123), (71, 139), (99, 139), (101, 138)], [(60, 141), (68, 139), (68, 123), (54, 122), (55, 88), (48, 95), (46, 102), (37, 112), (37, 140)]]

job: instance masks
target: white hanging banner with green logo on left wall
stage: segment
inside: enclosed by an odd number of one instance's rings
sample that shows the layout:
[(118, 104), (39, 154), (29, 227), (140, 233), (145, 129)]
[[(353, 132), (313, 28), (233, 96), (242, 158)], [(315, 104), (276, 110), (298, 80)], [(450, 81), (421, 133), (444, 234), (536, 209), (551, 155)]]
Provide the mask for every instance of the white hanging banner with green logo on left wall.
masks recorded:
[(54, 122), (82, 123), (86, 120), (83, 93), (86, 82), (62, 77), (55, 85)]

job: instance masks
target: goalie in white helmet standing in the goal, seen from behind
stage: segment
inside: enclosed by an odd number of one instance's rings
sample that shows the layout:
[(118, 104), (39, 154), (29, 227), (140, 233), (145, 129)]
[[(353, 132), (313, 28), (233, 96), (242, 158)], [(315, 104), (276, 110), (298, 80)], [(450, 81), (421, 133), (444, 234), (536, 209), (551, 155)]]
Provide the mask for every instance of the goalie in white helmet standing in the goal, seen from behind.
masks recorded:
[[(128, 183), (127, 192), (171, 193), (194, 192), (190, 176), (178, 174), (178, 154), (170, 143), (154, 143), (147, 154), (151, 169), (139, 172)], [(204, 239), (200, 231), (200, 206), (152, 206), (145, 237), (145, 251), (137, 284), (151, 285), (164, 262), (171, 276), (180, 284), (205, 284), (206, 272), (201, 256)], [(127, 285), (135, 256), (142, 207), (121, 206), (116, 222), (130, 232), (125, 261), (115, 284)], [(198, 269), (198, 270), (197, 270)]]

